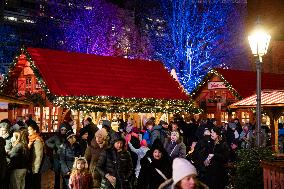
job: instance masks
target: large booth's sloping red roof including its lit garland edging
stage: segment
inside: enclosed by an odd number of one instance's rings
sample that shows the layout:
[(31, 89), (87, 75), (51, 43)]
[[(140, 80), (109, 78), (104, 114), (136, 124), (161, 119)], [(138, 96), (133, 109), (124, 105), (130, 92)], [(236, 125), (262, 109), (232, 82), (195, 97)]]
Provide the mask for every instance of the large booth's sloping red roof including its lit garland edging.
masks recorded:
[(23, 56), (49, 100), (61, 107), (110, 112), (196, 110), (159, 61), (40, 48), (24, 49)]

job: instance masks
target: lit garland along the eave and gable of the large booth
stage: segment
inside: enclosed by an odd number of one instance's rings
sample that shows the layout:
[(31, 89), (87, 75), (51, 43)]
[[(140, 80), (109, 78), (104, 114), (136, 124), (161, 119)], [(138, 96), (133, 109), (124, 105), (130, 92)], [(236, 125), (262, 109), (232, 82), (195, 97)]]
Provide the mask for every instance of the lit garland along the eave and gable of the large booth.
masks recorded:
[[(50, 102), (56, 106), (63, 108), (86, 111), (86, 112), (163, 112), (163, 113), (202, 113), (202, 110), (196, 108), (192, 100), (168, 100), (154, 98), (120, 98), (112, 96), (57, 96), (53, 95), (47, 87), (43, 77), (34, 64), (32, 57), (25, 48), (21, 49), (21, 53), (26, 56), (26, 60), (30, 63), (38, 84), (45, 91), (45, 95)], [(9, 76), (12, 68), (16, 65), (19, 56), (16, 56), (10, 66), (8, 73), (5, 75), (1, 89), (8, 84)]]

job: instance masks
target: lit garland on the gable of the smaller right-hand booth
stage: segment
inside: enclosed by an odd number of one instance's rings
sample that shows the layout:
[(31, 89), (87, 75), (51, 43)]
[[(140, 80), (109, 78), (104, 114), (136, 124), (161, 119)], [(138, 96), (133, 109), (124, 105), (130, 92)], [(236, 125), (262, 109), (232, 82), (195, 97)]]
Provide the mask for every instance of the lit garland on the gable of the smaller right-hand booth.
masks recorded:
[(221, 78), (222, 81), (224, 81), (225, 86), (229, 89), (229, 91), (235, 96), (237, 97), (238, 100), (243, 99), (240, 94), (237, 92), (236, 89), (233, 88), (233, 86), (224, 78), (224, 76), (222, 74), (220, 74), (218, 71), (216, 71), (215, 69), (210, 70), (207, 75), (205, 76), (205, 78), (202, 80), (202, 82), (200, 82), (198, 84), (198, 86), (195, 88), (195, 90), (192, 91), (191, 95), (194, 97), (197, 92), (199, 91), (199, 89), (205, 85), (205, 83), (207, 83), (211, 77), (212, 74), (217, 75), (218, 77)]

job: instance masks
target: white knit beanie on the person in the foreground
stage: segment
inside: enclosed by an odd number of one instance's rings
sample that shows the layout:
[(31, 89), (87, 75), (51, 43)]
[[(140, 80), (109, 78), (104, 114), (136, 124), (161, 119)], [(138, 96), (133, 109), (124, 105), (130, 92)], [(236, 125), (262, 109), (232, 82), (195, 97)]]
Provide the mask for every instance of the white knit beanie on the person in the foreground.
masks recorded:
[(197, 175), (195, 167), (184, 158), (175, 158), (173, 161), (173, 186), (188, 175)]

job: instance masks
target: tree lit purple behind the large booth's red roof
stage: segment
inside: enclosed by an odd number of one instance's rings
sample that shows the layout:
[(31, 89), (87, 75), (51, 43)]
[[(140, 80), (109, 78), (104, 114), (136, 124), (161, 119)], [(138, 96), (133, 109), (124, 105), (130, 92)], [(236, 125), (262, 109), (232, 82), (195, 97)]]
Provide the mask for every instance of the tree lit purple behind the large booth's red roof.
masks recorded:
[(98, 55), (147, 58), (134, 18), (128, 10), (103, 0), (58, 5), (57, 17), (65, 20), (63, 48)]

